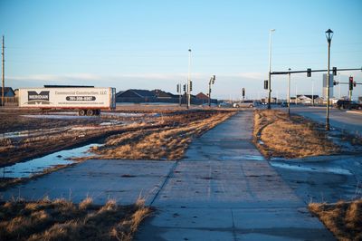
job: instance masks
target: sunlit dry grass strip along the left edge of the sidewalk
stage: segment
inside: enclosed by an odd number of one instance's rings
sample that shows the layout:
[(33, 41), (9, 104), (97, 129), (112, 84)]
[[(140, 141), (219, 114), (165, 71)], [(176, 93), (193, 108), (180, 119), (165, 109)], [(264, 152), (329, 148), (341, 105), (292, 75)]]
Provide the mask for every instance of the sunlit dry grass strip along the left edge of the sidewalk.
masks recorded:
[(214, 128), (234, 113), (205, 111), (195, 116), (174, 117), (171, 126), (112, 136), (104, 146), (92, 150), (98, 159), (181, 159), (193, 138)]

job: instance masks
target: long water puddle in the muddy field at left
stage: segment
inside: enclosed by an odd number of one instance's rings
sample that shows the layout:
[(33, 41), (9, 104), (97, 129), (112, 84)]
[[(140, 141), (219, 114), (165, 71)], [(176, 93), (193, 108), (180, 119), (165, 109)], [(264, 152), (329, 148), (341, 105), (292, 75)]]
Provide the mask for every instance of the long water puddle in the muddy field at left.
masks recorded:
[(25, 162), (16, 163), (13, 166), (0, 168), (0, 178), (29, 178), (33, 174), (42, 173), (44, 169), (49, 169), (57, 165), (68, 165), (74, 161), (70, 158), (86, 157), (85, 153), (90, 147), (100, 146), (100, 144), (90, 144), (76, 149), (65, 149), (39, 159), (31, 159)]

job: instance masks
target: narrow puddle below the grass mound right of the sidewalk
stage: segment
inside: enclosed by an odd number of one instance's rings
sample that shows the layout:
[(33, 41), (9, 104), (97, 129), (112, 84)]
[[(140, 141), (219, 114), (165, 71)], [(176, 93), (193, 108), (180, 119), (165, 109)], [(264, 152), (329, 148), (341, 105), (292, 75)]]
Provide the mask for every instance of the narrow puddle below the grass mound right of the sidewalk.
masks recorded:
[(320, 166), (301, 166), (300, 164), (288, 164), (288, 163), (281, 163), (281, 162), (274, 162), (271, 161), (271, 166), (274, 168), (280, 169), (291, 169), (291, 170), (298, 170), (298, 171), (310, 171), (310, 172), (324, 172), (324, 173), (333, 173), (338, 175), (352, 175), (352, 173), (348, 169), (340, 169), (340, 168), (333, 168), (333, 167), (320, 167)]

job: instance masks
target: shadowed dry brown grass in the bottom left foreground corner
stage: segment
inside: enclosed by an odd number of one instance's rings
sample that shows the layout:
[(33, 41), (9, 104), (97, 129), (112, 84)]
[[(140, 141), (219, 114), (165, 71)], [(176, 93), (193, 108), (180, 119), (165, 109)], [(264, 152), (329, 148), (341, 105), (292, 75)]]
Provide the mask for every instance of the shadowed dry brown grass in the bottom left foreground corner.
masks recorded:
[(65, 199), (9, 201), (0, 206), (0, 240), (131, 240), (151, 213), (138, 201), (104, 206), (86, 198), (79, 205)]

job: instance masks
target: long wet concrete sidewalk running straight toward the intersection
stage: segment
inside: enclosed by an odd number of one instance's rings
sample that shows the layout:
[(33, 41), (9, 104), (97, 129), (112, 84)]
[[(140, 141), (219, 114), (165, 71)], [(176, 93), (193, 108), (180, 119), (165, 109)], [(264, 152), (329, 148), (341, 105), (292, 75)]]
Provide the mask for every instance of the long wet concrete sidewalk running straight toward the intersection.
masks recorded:
[(195, 140), (136, 240), (334, 240), (252, 144), (252, 111)]

